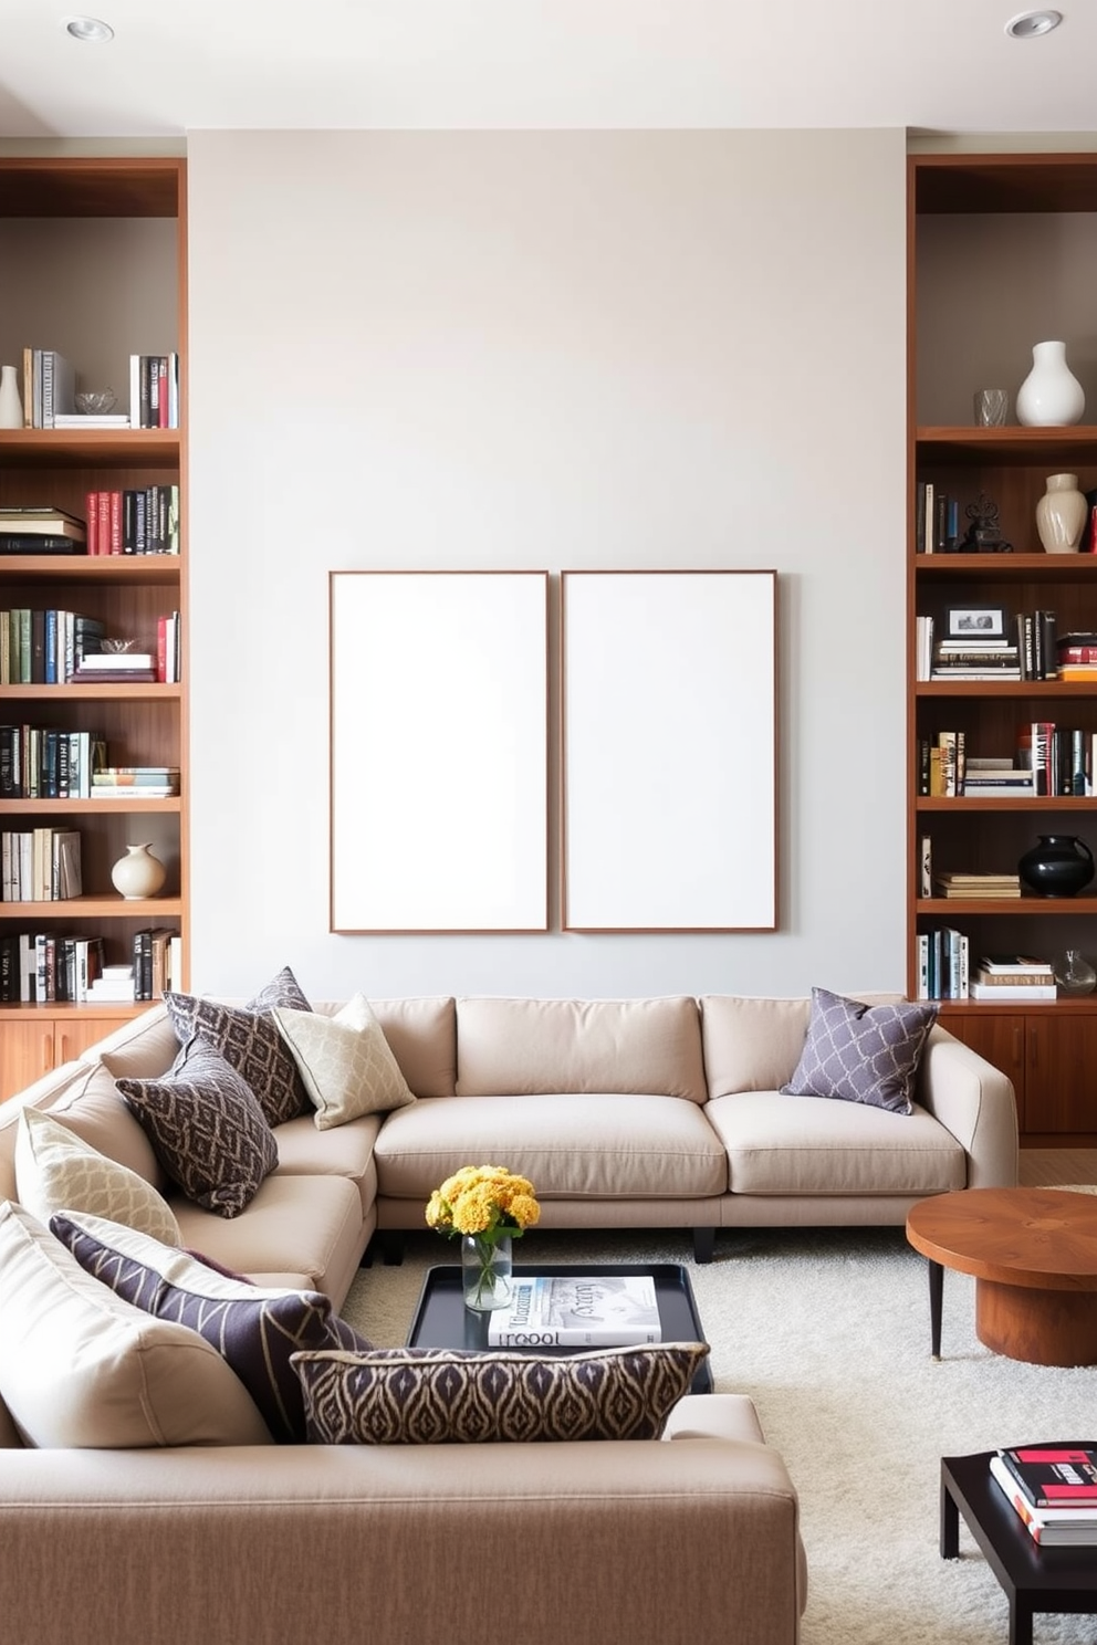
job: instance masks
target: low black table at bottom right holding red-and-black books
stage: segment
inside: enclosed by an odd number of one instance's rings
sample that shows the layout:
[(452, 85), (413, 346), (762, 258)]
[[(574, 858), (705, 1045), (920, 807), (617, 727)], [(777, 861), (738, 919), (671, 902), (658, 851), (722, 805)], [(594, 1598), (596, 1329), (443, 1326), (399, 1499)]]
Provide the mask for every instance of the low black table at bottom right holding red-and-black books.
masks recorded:
[[(1059, 1444), (1056, 1439), (1046, 1443)], [(1094, 1444), (1092, 1439), (1084, 1443)], [(1033, 1645), (1036, 1612), (1097, 1614), (1097, 1548), (1035, 1543), (995, 1484), (992, 1456), (993, 1451), (980, 1451), (941, 1457), (941, 1558), (959, 1558), (962, 1513), (1010, 1601), (1010, 1645)]]

